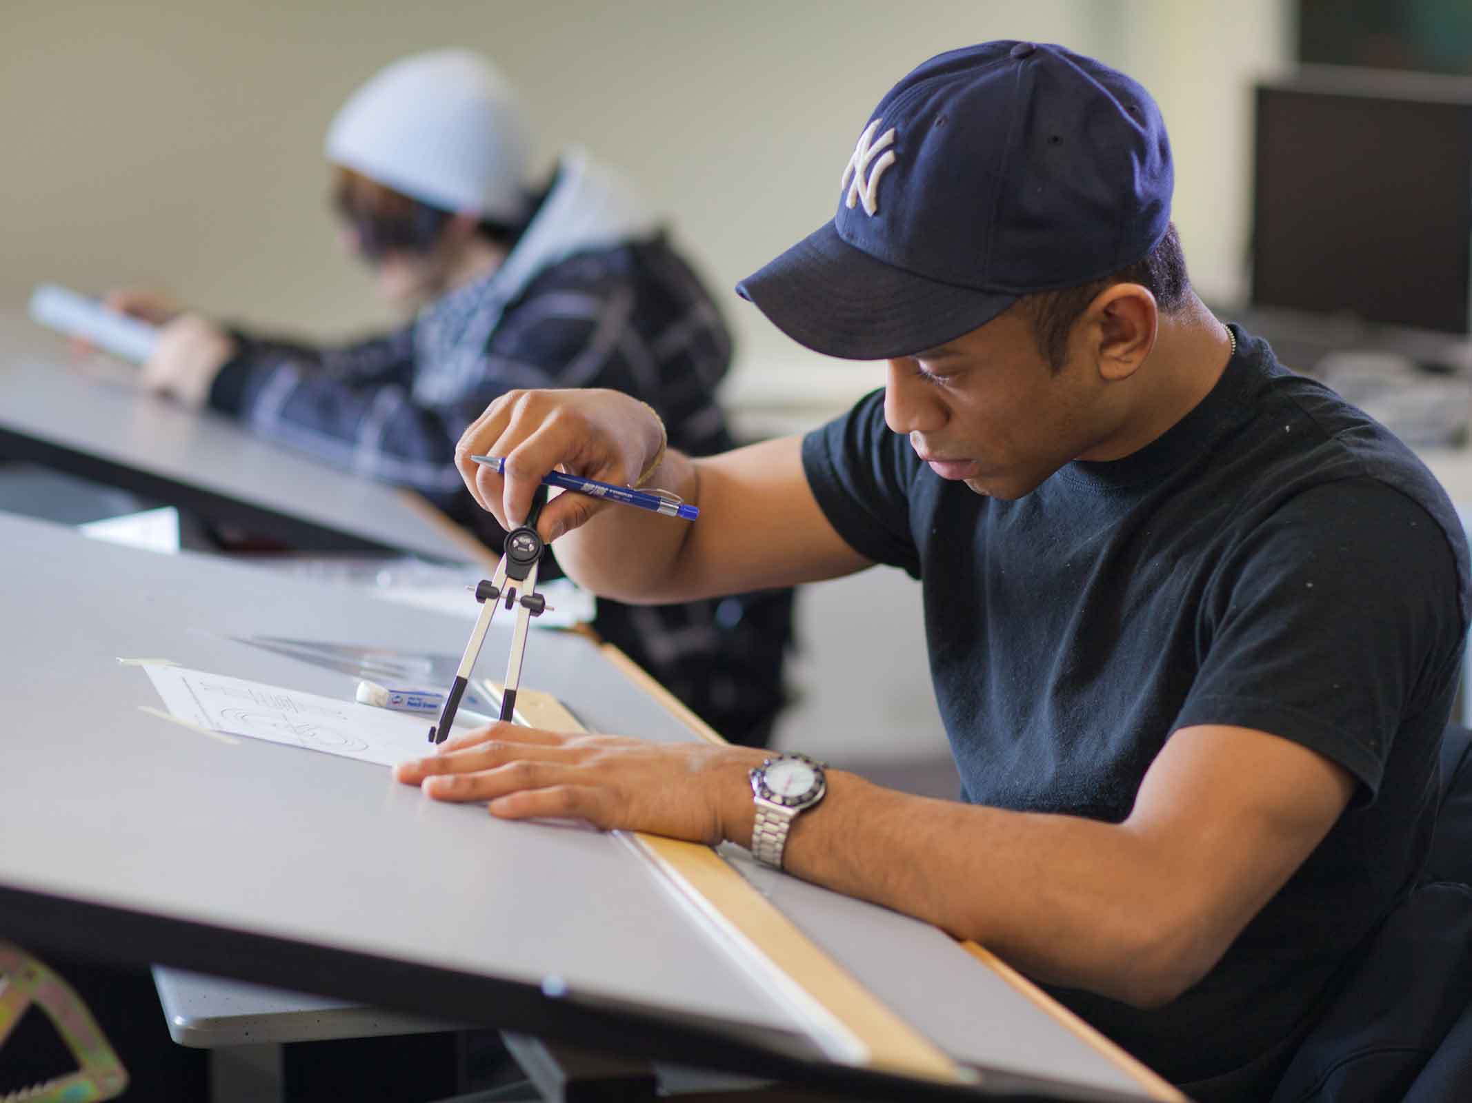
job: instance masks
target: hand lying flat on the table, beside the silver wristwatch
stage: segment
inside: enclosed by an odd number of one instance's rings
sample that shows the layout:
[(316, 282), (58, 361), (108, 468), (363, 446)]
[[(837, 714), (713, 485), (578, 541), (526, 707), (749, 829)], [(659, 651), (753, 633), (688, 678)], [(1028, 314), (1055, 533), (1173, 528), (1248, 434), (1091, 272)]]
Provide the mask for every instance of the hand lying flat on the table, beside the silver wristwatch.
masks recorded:
[(489, 802), (502, 819), (584, 819), (715, 846), (751, 834), (746, 771), (765, 757), (748, 747), (493, 724), (393, 775), (436, 800)]

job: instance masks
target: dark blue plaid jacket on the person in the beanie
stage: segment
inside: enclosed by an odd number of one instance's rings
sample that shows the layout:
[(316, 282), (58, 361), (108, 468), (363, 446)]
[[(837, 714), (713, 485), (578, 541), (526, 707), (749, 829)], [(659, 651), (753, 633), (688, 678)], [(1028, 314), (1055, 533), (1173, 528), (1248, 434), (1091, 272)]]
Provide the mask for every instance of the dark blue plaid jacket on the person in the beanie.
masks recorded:
[[(361, 344), (236, 337), (213, 407), (328, 463), (420, 491), (498, 552), (505, 532), (461, 482), (455, 444), (508, 390), (611, 387), (654, 406), (682, 451), (733, 444), (714, 399), (730, 338), (658, 235), (551, 263), (509, 301), (493, 274)], [(790, 590), (671, 606), (599, 600), (593, 624), (726, 738), (765, 741), (785, 702)]]

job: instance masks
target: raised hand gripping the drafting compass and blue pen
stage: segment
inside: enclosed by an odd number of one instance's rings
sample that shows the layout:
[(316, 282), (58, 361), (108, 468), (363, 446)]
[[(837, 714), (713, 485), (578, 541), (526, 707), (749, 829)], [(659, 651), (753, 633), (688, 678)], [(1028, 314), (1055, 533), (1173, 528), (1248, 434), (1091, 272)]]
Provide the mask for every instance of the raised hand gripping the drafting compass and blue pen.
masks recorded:
[[(659, 456), (664, 425), (658, 415), (621, 391), (508, 391), (465, 429), (455, 465), (481, 509), (502, 528), (517, 528), (531, 510), (542, 476), (553, 468), (570, 475), (631, 485)], [(471, 456), (500, 456), (505, 475)], [(561, 494), (537, 522), (543, 540), (555, 540), (611, 503), (586, 494)]]

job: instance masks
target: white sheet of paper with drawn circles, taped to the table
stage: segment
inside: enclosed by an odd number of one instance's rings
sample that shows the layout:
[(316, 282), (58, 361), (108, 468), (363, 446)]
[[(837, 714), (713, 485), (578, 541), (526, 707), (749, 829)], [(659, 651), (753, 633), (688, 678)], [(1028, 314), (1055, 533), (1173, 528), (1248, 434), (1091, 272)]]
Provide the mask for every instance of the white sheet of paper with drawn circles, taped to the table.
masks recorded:
[[(427, 737), (436, 718), (430, 713), (378, 709), (184, 666), (149, 665), (143, 669), (165, 707), (196, 728), (384, 766), (422, 757), (433, 750)], [(461, 727), (459, 718), (456, 727)]]

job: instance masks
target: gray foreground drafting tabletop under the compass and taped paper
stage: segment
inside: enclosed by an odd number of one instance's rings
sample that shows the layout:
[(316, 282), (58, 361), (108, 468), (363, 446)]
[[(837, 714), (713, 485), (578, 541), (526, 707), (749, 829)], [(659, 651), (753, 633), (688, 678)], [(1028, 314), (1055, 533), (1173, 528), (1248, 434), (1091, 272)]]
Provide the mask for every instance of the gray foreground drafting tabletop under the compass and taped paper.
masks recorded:
[[(0, 560), (0, 625), (24, 625), (0, 629), (10, 675), (0, 838), (26, 840), (0, 847), (0, 887), (528, 984), (558, 978), (835, 1052), (824, 1024), (774, 996), (751, 957), (617, 837), (430, 802), (368, 762), (221, 743), (160, 718), (147, 672), (118, 662), (162, 659), (347, 700), (349, 674), (233, 637), (336, 640), (453, 665), (462, 619), (6, 515)], [(478, 677), (502, 675), (506, 635), (487, 638)], [(521, 684), (590, 729), (690, 738), (578, 635), (534, 635)], [(933, 928), (736, 865), (952, 1056), (1138, 1093)]]

